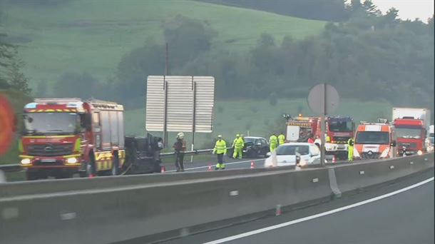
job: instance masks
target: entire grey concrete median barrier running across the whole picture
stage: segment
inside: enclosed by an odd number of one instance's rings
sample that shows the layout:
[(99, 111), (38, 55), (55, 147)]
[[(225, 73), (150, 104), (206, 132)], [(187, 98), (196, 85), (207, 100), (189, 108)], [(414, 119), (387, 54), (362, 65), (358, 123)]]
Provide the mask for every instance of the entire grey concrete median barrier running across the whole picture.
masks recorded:
[[(29, 190), (21, 187), (16, 188), (21, 193), (0, 195), (0, 242), (114, 243), (145, 237), (140, 243), (146, 243), (158, 233), (173, 230), (182, 235), (179, 230), (189, 233), (192, 226), (267, 210), (275, 213), (277, 205), (311, 203), (433, 167), (434, 155), (426, 154), (302, 171), (175, 173), (169, 182), (163, 182), (169, 174), (78, 179), (83, 185), (73, 184), (77, 188), (63, 188), (75, 179), (30, 182)], [(60, 182), (57, 188), (51, 186)], [(37, 192), (31, 191), (32, 183)], [(98, 187), (84, 189), (92, 183)], [(101, 187), (103, 183), (111, 187)]]

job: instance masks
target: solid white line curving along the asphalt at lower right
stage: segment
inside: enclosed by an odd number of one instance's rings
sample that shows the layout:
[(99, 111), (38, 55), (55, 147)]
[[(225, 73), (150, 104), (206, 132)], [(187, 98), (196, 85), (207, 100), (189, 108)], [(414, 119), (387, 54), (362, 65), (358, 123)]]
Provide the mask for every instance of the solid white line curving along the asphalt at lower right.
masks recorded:
[(411, 190), (412, 188), (419, 187), (420, 185), (424, 185), (424, 184), (429, 183), (431, 181), (434, 181), (434, 177), (429, 178), (429, 179), (427, 179), (425, 181), (421, 181), (421, 182), (416, 183), (414, 185), (407, 186), (406, 188), (401, 188), (400, 190), (395, 190), (395, 191), (393, 191), (391, 193), (387, 193), (385, 195), (379, 195), (376, 198), (370, 198), (368, 200), (363, 200), (362, 202), (359, 202), (359, 203), (354, 203), (354, 204), (347, 205), (347, 206), (344, 206), (344, 207), (341, 207), (341, 208), (336, 208), (336, 209), (333, 209), (333, 210), (329, 210), (329, 211), (326, 211), (326, 212), (323, 212), (323, 213), (318, 213), (318, 214), (315, 214), (315, 215), (310, 215), (308, 217), (300, 218), (300, 219), (297, 219), (297, 220), (292, 220), (292, 221), (289, 221), (289, 222), (286, 222), (286, 223), (280, 223), (278, 225), (272, 225), (272, 226), (269, 226), (269, 227), (266, 227), (266, 228), (252, 230), (252, 231), (249, 231), (249, 232), (246, 232), (246, 233), (242, 233), (242, 234), (239, 234), (239, 235), (232, 235), (232, 236), (229, 236), (227, 238), (222, 238), (222, 239), (219, 239), (219, 240), (213, 240), (213, 241), (210, 241), (208, 243), (203, 243), (203, 244), (226, 243), (226, 242), (228, 242), (230, 240), (237, 240), (237, 239), (240, 239), (240, 238), (245, 238), (245, 237), (250, 236), (250, 235), (256, 235), (256, 234), (263, 233), (263, 232), (266, 232), (266, 231), (275, 230), (277, 228), (282, 228), (282, 227), (286, 227), (286, 226), (289, 226), (289, 225), (295, 225), (296, 223), (305, 222), (307, 220), (312, 220), (314, 218), (320, 218), (320, 217), (325, 216), (325, 215), (331, 215), (332, 213), (337, 213), (337, 212), (340, 212), (340, 211), (343, 211), (343, 210), (347, 210), (347, 209), (350, 209), (350, 208), (356, 208), (356, 207), (358, 207), (360, 205), (364, 205), (364, 204), (367, 204), (367, 203), (372, 203), (372, 202), (377, 201), (377, 200), (388, 198), (388, 197), (390, 197), (392, 195), (403, 193), (406, 190)]

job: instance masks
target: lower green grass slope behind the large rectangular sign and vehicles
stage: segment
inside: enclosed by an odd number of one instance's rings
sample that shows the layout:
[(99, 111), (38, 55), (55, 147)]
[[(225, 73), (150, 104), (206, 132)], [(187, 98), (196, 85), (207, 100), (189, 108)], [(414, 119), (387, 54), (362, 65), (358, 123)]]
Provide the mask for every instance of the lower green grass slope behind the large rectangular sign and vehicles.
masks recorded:
[[(365, 102), (342, 99), (339, 108), (334, 113), (341, 116), (352, 116), (355, 123), (359, 121), (376, 121), (377, 118), (391, 118), (391, 104), (381, 102)], [(265, 136), (268, 138), (274, 130), (285, 129), (283, 113), (296, 116), (301, 111), (303, 116), (312, 116), (305, 99), (282, 99), (276, 106), (270, 106), (266, 100), (217, 101), (215, 103), (215, 120), (213, 133), (198, 133), (195, 145), (198, 148), (210, 148), (210, 142), (218, 134), (227, 140), (232, 140), (235, 133), (248, 131), (251, 136)], [(135, 136), (145, 135), (145, 108), (126, 111), (126, 134)], [(161, 133), (150, 132), (155, 136)], [(170, 133), (173, 141), (176, 133)], [(172, 138), (172, 139), (171, 139)], [(186, 136), (188, 143), (192, 141), (190, 133)], [(206, 144), (205, 144), (206, 143)]]

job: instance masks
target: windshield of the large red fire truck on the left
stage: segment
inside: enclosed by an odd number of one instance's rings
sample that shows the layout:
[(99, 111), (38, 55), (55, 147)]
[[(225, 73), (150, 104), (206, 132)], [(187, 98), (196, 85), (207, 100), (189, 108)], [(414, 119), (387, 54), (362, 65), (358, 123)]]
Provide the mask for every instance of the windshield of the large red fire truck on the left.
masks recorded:
[(77, 113), (26, 113), (24, 128), (26, 134), (71, 134), (80, 123)]

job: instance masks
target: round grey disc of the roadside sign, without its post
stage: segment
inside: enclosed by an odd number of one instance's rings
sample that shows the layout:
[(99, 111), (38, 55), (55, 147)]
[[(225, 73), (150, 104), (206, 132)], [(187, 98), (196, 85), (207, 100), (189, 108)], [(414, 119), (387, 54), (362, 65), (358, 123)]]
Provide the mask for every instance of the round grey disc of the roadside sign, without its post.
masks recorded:
[(339, 95), (334, 86), (320, 83), (313, 86), (308, 94), (308, 105), (314, 113), (327, 115), (339, 105)]

